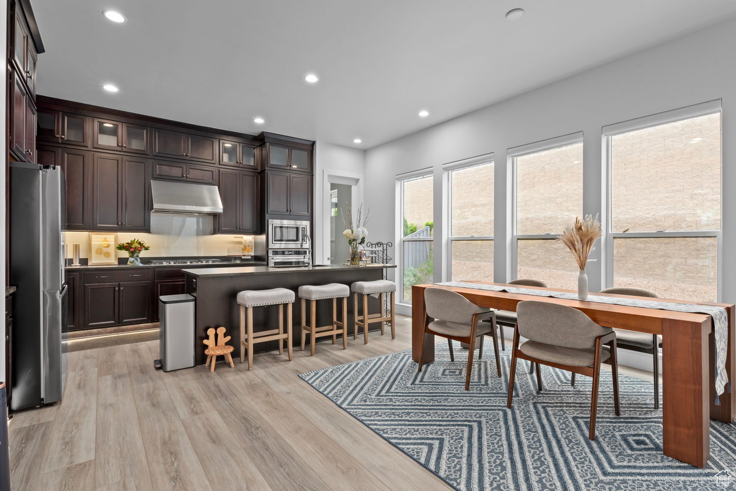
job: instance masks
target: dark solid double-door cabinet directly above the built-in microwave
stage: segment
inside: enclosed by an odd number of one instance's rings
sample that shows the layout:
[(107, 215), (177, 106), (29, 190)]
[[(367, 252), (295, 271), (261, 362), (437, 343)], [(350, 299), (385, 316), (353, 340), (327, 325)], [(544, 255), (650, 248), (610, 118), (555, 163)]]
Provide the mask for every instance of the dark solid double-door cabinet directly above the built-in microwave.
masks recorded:
[(310, 216), (311, 176), (266, 171), (266, 213)]

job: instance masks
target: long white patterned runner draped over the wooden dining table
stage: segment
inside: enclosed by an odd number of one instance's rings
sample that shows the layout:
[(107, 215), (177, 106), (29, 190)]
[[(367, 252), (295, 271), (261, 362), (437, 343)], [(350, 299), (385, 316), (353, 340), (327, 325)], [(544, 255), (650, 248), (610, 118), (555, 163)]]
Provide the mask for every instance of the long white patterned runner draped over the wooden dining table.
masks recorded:
[[(491, 292), (509, 292), (524, 295), (537, 295), (537, 297), (554, 297), (565, 300), (580, 300), (578, 294), (571, 292), (549, 292), (547, 290), (535, 290), (530, 288), (517, 288), (514, 286), (484, 285), (482, 283), (466, 283), (464, 281), (447, 281), (435, 283), (441, 286), (454, 286), (456, 288), (471, 288), (476, 290), (489, 290)], [(590, 295), (585, 302), (611, 303), (615, 305), (629, 305), (630, 307), (659, 308), (661, 310), (676, 312), (691, 312), (693, 314), (708, 314), (713, 319), (713, 331), (715, 333), (715, 404), (720, 405), (718, 396), (723, 392), (731, 392), (728, 372), (726, 372), (726, 351), (729, 342), (729, 317), (726, 309), (715, 305), (693, 305), (690, 303), (658, 302), (657, 300), (640, 300), (638, 298), (603, 297)]]

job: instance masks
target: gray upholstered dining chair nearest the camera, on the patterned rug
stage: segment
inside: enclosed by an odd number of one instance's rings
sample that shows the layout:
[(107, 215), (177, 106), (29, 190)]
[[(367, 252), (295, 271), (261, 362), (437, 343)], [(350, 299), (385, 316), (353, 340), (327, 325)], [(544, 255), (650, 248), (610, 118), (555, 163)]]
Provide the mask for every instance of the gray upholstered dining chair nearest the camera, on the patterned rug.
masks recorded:
[[(598, 381), (601, 363), (611, 365), (613, 374), (613, 401), (616, 416), (618, 408), (618, 365), (616, 364), (616, 333), (611, 328), (596, 324), (576, 308), (558, 303), (524, 300), (517, 303), (518, 317), (512, 347), (509, 398), (506, 407), (511, 408), (514, 396), (516, 361), (534, 361), (537, 367), (537, 389), (542, 390), (539, 364), (561, 368), (593, 378), (590, 397), (590, 434), (595, 439), (595, 413), (598, 409)], [(528, 341), (519, 346), (519, 338)], [(608, 347), (605, 347), (605, 344)]]

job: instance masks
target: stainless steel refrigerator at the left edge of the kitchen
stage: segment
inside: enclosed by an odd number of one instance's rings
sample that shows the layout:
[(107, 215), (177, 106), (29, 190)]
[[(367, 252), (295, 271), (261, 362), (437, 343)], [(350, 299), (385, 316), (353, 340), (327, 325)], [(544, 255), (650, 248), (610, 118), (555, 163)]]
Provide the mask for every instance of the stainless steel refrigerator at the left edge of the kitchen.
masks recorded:
[(10, 163), (14, 411), (61, 400), (66, 381), (63, 182), (59, 167)]

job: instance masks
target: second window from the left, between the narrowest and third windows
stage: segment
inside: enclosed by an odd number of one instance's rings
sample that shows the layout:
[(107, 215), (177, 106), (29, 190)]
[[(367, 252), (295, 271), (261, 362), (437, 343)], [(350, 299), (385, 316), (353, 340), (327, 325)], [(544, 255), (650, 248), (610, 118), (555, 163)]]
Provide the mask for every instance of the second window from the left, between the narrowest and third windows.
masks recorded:
[(452, 169), (450, 279), (493, 281), (493, 162)]

